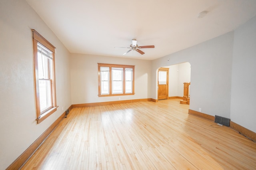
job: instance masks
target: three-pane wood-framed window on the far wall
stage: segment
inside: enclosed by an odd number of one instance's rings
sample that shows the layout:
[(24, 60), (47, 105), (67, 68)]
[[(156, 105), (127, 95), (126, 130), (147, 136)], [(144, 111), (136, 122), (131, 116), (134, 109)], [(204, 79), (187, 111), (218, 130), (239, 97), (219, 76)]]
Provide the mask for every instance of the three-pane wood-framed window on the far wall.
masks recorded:
[(134, 95), (134, 65), (98, 63), (99, 97)]

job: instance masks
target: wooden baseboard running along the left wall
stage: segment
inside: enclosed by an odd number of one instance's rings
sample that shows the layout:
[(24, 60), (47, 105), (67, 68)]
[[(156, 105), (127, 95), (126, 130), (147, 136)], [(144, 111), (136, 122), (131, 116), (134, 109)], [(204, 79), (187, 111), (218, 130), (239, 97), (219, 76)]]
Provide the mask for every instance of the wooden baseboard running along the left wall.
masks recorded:
[[(72, 105), (68, 108), (72, 109)], [(66, 111), (60, 115), (60, 117), (52, 123), (48, 129), (44, 131), (41, 136), (39, 136), (36, 141), (34, 141), (6, 170), (18, 170), (30, 156), (36, 151), (36, 149), (44, 142), (44, 140), (50, 135), (50, 133), (57, 127), (57, 125), (66, 116)]]

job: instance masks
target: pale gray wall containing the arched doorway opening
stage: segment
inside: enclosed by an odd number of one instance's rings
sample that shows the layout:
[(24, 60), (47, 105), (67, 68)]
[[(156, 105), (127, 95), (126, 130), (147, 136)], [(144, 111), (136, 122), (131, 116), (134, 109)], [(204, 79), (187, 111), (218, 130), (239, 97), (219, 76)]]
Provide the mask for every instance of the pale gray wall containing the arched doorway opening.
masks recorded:
[[(230, 118), (231, 66), (234, 32), (152, 61), (151, 98), (157, 99), (156, 69), (191, 64), (190, 109)], [(168, 61), (168, 59), (170, 59)]]

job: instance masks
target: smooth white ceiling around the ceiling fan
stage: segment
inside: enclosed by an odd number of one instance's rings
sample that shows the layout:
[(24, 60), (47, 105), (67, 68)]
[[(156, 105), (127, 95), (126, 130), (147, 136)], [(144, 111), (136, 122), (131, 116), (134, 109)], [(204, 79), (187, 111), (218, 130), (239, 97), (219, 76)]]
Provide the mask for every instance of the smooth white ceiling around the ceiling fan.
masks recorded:
[[(236, 29), (256, 0), (26, 0), (71, 53), (153, 60)], [(47, 9), (47, 10), (46, 10)], [(204, 18), (198, 14), (206, 10)], [(130, 51), (132, 39), (155, 48)]]

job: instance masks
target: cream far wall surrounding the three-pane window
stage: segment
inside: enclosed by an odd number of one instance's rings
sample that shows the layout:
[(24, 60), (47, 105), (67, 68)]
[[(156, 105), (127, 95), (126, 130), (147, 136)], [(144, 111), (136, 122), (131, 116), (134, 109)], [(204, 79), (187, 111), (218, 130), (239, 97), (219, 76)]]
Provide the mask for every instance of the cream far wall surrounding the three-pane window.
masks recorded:
[[(148, 94), (151, 61), (88, 54), (72, 53), (71, 55), (72, 104), (150, 98)], [(135, 95), (98, 97), (98, 63), (135, 65)]]

